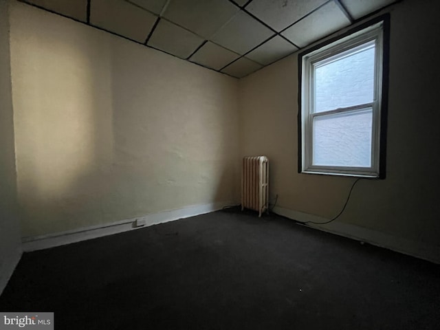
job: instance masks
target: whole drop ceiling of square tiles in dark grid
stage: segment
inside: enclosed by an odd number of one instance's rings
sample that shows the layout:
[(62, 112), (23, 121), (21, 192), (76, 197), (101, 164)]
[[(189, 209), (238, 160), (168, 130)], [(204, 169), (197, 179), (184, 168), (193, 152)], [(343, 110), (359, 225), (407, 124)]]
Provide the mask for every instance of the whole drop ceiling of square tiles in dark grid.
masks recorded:
[(242, 78), (396, 0), (23, 0)]

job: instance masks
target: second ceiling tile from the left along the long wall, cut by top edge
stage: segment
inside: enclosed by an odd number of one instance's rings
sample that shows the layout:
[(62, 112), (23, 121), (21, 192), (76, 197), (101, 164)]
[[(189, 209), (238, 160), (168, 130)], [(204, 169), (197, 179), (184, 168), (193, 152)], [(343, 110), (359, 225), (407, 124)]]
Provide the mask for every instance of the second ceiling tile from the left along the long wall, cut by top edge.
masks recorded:
[(90, 23), (99, 28), (144, 43), (153, 28), (156, 17), (126, 1), (93, 0)]

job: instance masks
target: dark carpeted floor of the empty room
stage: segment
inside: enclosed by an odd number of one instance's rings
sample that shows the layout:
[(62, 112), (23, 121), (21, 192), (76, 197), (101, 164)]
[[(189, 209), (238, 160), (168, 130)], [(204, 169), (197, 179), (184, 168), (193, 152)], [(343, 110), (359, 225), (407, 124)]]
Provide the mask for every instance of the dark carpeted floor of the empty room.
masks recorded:
[(23, 255), (0, 311), (55, 329), (440, 329), (440, 265), (224, 210)]

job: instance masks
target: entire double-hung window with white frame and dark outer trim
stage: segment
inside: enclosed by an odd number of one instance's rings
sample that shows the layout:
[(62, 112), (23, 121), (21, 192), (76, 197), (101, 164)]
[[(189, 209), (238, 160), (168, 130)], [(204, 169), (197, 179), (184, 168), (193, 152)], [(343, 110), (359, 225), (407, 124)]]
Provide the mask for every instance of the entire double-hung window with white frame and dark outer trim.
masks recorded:
[(384, 25), (387, 17), (300, 54), (300, 173), (384, 177)]

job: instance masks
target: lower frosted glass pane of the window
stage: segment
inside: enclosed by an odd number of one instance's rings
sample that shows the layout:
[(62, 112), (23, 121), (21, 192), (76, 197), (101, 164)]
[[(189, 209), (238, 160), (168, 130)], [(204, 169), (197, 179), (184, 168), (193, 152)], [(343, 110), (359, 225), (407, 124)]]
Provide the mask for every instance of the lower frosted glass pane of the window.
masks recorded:
[(373, 109), (320, 115), (313, 122), (313, 165), (371, 166)]

